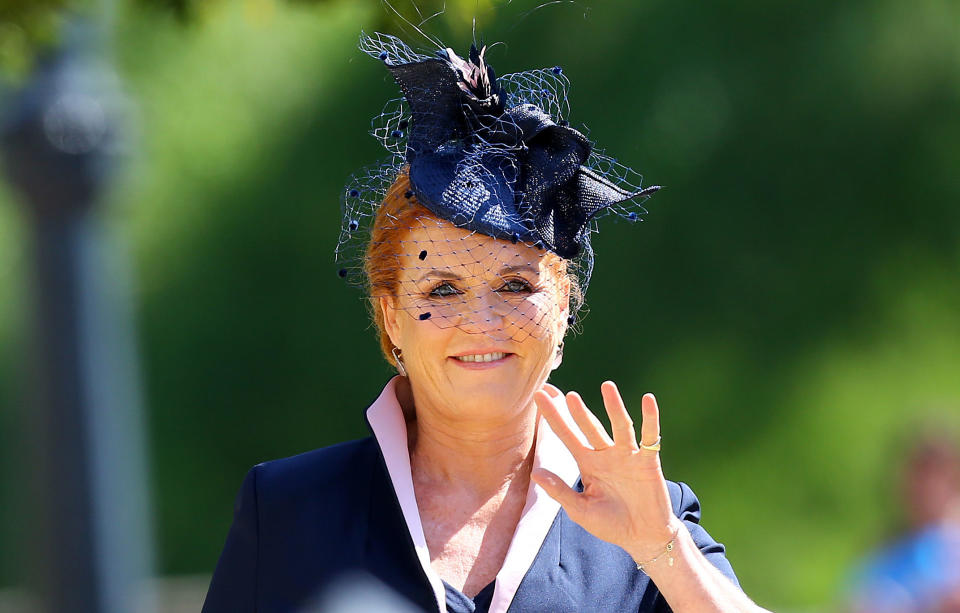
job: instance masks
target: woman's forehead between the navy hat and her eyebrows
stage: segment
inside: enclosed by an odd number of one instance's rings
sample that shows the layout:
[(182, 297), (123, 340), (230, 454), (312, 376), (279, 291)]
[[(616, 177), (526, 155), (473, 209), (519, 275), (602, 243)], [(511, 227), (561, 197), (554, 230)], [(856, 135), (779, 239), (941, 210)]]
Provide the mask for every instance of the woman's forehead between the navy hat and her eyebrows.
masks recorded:
[(396, 253), (400, 266), (411, 271), (446, 268), (475, 275), (523, 268), (539, 273), (548, 265), (546, 251), (471, 232), (432, 217), (418, 218), (401, 236)]

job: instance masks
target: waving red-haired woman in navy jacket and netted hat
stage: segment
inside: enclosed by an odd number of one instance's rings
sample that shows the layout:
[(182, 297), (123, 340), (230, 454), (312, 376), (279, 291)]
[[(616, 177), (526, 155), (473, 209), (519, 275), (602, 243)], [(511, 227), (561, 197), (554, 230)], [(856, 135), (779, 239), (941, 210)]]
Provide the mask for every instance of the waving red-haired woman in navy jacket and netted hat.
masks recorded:
[(441, 613), (760, 611), (696, 497), (663, 477), (653, 395), (638, 440), (614, 383), (612, 435), (547, 383), (593, 220), (636, 219), (629, 202), (656, 188), (562, 119), (559, 68), (498, 80), (475, 48), (362, 48), (404, 99), (374, 127), (393, 157), (346, 191), (339, 253), (362, 267), (340, 274), (362, 273), (399, 374), (367, 410), (372, 437), (250, 471), (204, 611), (301, 610), (345, 571)]

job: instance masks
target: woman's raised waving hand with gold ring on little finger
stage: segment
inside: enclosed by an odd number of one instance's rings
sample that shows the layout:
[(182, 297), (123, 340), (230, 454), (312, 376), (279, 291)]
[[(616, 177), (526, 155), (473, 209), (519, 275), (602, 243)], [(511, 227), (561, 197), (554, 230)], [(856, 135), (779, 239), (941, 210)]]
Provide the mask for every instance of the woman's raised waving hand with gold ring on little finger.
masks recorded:
[[(573, 490), (548, 470), (537, 469), (531, 477), (573, 521), (643, 561), (663, 551), (682, 522), (671, 508), (659, 452), (637, 443), (633, 420), (616, 384), (606, 381), (600, 392), (613, 439), (576, 392), (566, 395), (574, 424), (557, 412), (545, 392), (539, 391), (534, 397), (540, 414), (577, 461), (583, 492)], [(643, 396), (641, 411), (641, 442), (645, 447), (655, 446), (660, 440), (660, 412), (653, 394)], [(581, 442), (574, 428), (583, 433), (587, 444)]]

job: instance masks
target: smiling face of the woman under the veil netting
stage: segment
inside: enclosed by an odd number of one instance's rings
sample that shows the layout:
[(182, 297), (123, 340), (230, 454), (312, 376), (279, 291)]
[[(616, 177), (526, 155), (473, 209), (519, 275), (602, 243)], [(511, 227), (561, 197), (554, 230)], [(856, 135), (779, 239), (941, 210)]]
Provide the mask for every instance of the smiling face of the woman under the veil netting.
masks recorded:
[(434, 217), (404, 233), (398, 291), (382, 297), (418, 410), (497, 419), (532, 406), (566, 331), (563, 260)]

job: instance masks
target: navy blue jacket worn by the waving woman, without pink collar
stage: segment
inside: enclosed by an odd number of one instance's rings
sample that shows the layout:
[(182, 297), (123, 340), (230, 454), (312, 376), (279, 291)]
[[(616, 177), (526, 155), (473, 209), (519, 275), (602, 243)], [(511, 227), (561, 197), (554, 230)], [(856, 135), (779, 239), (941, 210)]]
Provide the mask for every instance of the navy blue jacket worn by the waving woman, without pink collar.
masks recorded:
[[(683, 483), (668, 487), (674, 513), (700, 550), (736, 582), (723, 545), (699, 525), (696, 496)], [(416, 608), (438, 610), (373, 437), (258, 464), (247, 473), (203, 613), (298, 611), (349, 571), (372, 575)], [(669, 610), (626, 551), (585, 531), (562, 508), (509, 608)]]

